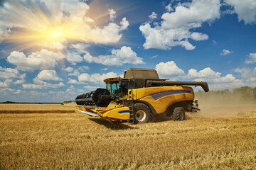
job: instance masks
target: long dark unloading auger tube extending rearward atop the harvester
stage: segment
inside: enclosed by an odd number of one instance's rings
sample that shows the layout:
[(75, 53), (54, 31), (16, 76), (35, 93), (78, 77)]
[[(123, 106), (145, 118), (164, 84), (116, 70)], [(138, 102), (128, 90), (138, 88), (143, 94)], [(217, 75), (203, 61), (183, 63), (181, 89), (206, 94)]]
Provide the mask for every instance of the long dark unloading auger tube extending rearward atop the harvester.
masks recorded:
[(198, 81), (162, 81), (162, 80), (148, 80), (146, 81), (146, 87), (151, 86), (181, 86), (181, 85), (188, 85), (188, 86), (201, 86), (204, 91), (208, 92), (209, 87), (207, 82), (198, 82)]

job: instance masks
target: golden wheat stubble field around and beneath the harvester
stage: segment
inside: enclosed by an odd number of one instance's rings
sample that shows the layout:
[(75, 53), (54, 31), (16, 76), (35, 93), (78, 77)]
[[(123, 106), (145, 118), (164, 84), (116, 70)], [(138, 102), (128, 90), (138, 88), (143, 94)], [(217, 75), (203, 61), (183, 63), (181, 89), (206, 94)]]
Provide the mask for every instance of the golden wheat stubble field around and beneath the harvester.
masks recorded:
[[(161, 115), (139, 125), (48, 112), (72, 106), (9, 106), (0, 105), (0, 169), (256, 168), (255, 105), (204, 105), (184, 121)], [(41, 112), (4, 113), (11, 110)]]

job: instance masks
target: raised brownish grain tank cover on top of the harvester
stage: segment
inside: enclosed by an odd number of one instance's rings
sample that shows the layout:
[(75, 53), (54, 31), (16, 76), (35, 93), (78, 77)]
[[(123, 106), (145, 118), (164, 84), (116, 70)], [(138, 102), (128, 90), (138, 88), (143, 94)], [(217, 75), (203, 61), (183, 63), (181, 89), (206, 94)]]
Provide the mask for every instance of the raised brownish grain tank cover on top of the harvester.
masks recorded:
[(124, 73), (124, 78), (129, 79), (159, 79), (159, 75), (157, 74), (155, 69), (128, 69)]

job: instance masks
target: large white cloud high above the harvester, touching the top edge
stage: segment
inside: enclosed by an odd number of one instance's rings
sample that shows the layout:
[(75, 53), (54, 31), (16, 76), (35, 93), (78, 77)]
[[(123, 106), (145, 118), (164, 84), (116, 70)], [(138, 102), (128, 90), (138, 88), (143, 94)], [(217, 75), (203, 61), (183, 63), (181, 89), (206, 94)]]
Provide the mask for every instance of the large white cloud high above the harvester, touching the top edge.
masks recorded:
[(181, 45), (186, 50), (193, 50), (195, 46), (189, 39), (208, 40), (208, 35), (197, 33), (195, 29), (204, 22), (220, 18), (220, 0), (193, 0), (191, 3), (178, 4), (173, 12), (166, 12), (161, 18), (161, 24), (155, 24), (153, 28), (149, 23), (139, 27), (146, 39), (144, 48), (169, 50)]

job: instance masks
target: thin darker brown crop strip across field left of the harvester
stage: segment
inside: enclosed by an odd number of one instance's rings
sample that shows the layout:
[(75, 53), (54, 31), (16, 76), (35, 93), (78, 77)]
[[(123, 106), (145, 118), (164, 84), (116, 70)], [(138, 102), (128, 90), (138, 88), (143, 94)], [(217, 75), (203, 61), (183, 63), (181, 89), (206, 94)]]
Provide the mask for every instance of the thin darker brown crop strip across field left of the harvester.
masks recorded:
[(2, 110), (0, 113), (75, 113), (75, 110)]

